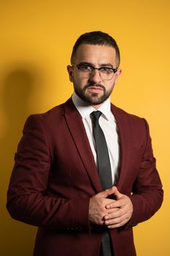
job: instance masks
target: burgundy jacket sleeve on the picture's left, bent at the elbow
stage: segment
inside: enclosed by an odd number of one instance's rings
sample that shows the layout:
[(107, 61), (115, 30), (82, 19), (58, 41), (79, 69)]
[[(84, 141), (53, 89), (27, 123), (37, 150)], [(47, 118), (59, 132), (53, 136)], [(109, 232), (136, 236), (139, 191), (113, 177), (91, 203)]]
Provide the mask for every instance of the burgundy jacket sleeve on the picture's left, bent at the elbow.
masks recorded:
[(15, 154), (9, 182), (9, 214), (30, 225), (57, 230), (90, 230), (88, 197), (69, 200), (60, 195), (47, 195), (51, 159), (52, 152), (42, 116), (30, 116)]

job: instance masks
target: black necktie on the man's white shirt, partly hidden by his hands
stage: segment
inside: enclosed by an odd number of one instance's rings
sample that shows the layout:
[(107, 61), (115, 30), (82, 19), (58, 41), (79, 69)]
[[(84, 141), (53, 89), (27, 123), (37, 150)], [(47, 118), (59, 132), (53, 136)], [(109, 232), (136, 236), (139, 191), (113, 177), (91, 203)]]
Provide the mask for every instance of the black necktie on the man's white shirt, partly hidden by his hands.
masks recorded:
[[(104, 132), (98, 124), (98, 119), (101, 116), (101, 111), (94, 111), (91, 113), (93, 120), (93, 137), (96, 143), (96, 156), (98, 175), (101, 180), (103, 189), (112, 187), (112, 173), (109, 162), (109, 152), (107, 142), (104, 137)], [(101, 252), (102, 256), (112, 256), (112, 247), (109, 238), (109, 232), (105, 232), (101, 238)]]

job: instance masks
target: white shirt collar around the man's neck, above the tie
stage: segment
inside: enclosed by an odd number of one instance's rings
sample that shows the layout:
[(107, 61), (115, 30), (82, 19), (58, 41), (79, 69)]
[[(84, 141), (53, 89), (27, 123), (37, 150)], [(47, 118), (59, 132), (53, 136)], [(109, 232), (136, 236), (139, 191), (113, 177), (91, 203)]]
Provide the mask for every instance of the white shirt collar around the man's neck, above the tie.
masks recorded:
[[(87, 102), (80, 99), (80, 97), (78, 97), (75, 92), (72, 95), (72, 101), (77, 110), (79, 111), (80, 115), (82, 116), (82, 118), (86, 118), (90, 115), (90, 113), (96, 111), (96, 109), (93, 108), (93, 106), (89, 105)], [(110, 99), (105, 100), (105, 102), (97, 110), (101, 111), (101, 113), (104, 114), (104, 117), (107, 118), (107, 120), (109, 120), (111, 114)]]

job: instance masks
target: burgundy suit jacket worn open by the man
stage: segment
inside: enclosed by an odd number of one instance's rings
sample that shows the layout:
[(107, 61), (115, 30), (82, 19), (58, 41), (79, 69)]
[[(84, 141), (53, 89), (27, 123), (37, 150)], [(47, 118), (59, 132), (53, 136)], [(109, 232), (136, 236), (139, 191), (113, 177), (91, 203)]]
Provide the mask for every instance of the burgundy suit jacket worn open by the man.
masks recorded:
[[(120, 138), (117, 189), (131, 198), (133, 215), (110, 230), (115, 256), (136, 255), (132, 226), (158, 211), (161, 180), (147, 122), (112, 105)], [(14, 219), (39, 226), (34, 256), (97, 256), (102, 230), (88, 221), (90, 197), (101, 192), (98, 171), (72, 99), (26, 121), (15, 154), (7, 209)]]

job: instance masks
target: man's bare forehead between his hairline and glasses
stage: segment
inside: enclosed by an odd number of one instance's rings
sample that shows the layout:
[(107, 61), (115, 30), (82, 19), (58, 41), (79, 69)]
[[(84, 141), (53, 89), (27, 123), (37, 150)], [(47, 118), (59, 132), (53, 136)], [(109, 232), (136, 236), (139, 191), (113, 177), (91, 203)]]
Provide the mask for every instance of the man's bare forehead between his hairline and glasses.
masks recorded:
[(112, 64), (112, 66), (115, 67), (115, 57), (115, 48), (109, 45), (82, 44), (77, 49), (75, 61), (77, 64), (80, 62), (89, 62), (94, 65)]

